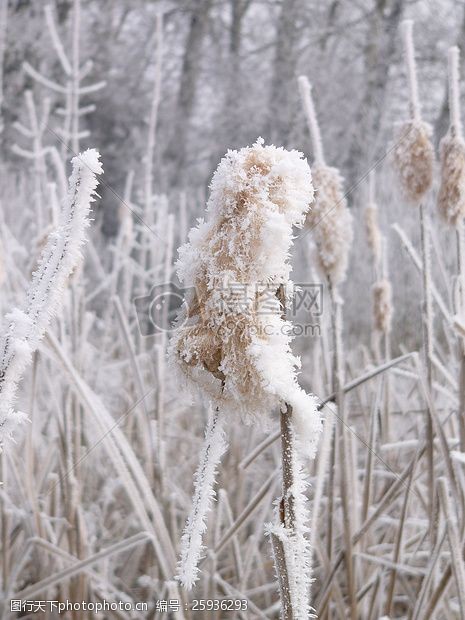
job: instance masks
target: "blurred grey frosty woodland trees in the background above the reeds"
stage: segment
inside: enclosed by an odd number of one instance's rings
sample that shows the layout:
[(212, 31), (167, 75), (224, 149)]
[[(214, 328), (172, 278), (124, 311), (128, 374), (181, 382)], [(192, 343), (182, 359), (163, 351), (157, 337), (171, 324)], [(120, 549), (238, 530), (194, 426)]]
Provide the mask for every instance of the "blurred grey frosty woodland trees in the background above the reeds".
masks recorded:
[[(28, 62), (50, 79), (63, 79), (46, 27), (46, 4), (8, 2), (2, 157), (18, 171), (24, 164), (11, 145), (21, 144), (14, 122), (24, 114), (26, 89), (33, 90), (37, 102), (51, 98), (44, 141), (57, 143), (61, 95), (47, 91), (23, 69)], [(51, 6), (64, 47), (70, 49), (73, 2), (55, 0)], [(312, 83), (328, 162), (344, 174), (351, 208), (363, 206), (367, 172), (384, 161), (393, 123), (407, 109), (398, 37), (406, 17), (415, 19), (418, 33), (424, 116), (438, 135), (445, 131), (446, 50), (461, 45), (465, 30), (464, 7), (455, 0), (81, 0), (81, 60), (92, 60), (92, 82), (106, 82), (82, 98), (83, 105), (95, 104), (95, 111), (80, 120), (90, 131), (81, 146), (96, 146), (105, 162), (98, 216), (103, 239), (117, 232), (118, 196), (128, 171), (135, 172), (136, 193), (143, 185), (137, 177), (147, 154), (160, 13), (162, 80), (153, 189), (170, 196), (173, 211), (184, 192), (191, 219), (198, 214), (192, 204), (203, 200), (228, 148), (262, 136), (303, 150), (311, 161), (297, 89), (300, 74)], [(389, 196), (385, 202), (392, 222), (403, 206)], [(363, 270), (358, 275), (363, 279)]]

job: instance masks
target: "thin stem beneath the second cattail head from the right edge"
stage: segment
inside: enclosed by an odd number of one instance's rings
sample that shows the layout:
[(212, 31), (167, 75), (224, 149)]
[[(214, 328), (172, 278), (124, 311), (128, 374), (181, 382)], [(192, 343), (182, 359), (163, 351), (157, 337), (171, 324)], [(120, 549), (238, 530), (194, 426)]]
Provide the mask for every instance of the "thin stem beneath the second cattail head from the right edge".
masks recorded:
[[(431, 248), (429, 238), (429, 221), (426, 209), (423, 203), (420, 204), (420, 233), (421, 233), (421, 257), (422, 257), (422, 276), (423, 276), (423, 342), (425, 349), (425, 365), (426, 380), (431, 398), (433, 396), (433, 298), (431, 294)], [(433, 510), (434, 498), (436, 495), (434, 481), (434, 446), (433, 446), (433, 421), (431, 419), (431, 411), (428, 408), (428, 417), (426, 420), (426, 441), (427, 441), (427, 461), (428, 461), (428, 493), (429, 493), (429, 510), (430, 525), (434, 526)], [(431, 531), (433, 534), (433, 531)]]

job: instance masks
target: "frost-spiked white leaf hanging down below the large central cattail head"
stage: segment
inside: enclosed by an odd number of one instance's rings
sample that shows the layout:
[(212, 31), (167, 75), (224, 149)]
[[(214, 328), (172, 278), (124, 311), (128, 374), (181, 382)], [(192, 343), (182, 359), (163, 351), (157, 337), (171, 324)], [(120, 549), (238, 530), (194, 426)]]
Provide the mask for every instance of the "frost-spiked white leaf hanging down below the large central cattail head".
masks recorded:
[(198, 564), (203, 551), (202, 536), (207, 528), (206, 517), (215, 496), (213, 486), (216, 470), (226, 447), (223, 419), (216, 409), (205, 432), (200, 463), (194, 477), (192, 511), (181, 538), (181, 559), (177, 579), (188, 590), (194, 586), (198, 578)]

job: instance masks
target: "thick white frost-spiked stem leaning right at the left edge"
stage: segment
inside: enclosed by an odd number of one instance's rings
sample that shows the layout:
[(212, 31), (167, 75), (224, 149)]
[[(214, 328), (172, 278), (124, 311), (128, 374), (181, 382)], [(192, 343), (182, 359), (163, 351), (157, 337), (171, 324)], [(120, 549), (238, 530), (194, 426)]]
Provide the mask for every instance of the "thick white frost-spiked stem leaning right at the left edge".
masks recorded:
[(0, 446), (12, 438), (15, 427), (26, 417), (13, 409), (18, 383), (58, 312), (66, 282), (81, 258), (96, 175), (103, 170), (99, 154), (93, 149), (74, 157), (72, 164), (58, 227), (48, 237), (25, 303), (5, 317), (0, 344)]

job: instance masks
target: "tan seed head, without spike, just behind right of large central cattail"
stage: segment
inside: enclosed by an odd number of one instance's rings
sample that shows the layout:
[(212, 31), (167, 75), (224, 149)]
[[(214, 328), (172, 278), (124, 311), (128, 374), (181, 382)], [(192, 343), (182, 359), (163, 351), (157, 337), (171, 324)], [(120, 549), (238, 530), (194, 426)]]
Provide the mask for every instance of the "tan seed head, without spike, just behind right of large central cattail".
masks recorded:
[(323, 273), (333, 284), (344, 280), (352, 244), (352, 216), (336, 168), (322, 165), (313, 169), (315, 201), (306, 225), (312, 231)]

